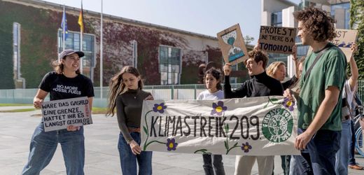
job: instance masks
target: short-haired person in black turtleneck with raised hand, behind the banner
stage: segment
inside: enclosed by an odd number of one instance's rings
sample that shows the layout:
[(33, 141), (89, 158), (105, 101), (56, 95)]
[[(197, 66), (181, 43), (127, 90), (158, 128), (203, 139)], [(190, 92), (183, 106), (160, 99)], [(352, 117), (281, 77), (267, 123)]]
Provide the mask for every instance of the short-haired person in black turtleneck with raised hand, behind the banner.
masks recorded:
[[(242, 97), (262, 97), (270, 95), (282, 95), (283, 87), (279, 80), (267, 75), (265, 67), (267, 66), (268, 57), (260, 50), (248, 52), (248, 59), (244, 62), (250, 80), (246, 80), (237, 90), (231, 90), (230, 64), (225, 64), (225, 85), (224, 95), (226, 99)], [(272, 174), (274, 165), (274, 156), (243, 156), (237, 155), (235, 160), (235, 174), (251, 174), (254, 162), (258, 162), (259, 174)]]

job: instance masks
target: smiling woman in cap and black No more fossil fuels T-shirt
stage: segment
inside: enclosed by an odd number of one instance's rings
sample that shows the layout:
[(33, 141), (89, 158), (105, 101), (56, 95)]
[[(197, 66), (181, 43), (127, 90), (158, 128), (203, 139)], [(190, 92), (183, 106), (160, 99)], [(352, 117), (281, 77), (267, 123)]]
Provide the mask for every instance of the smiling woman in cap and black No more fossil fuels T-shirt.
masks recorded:
[[(90, 109), (92, 109), (92, 98), (94, 97), (92, 81), (80, 74), (79, 70), (80, 57), (84, 55), (83, 52), (74, 50), (63, 50), (59, 54), (59, 61), (53, 62), (55, 71), (47, 73), (39, 85), (34, 97), (36, 109), (41, 108), (48, 93), (50, 93), (50, 101), (87, 96)], [(39, 174), (52, 160), (58, 143), (62, 147), (66, 173), (83, 174), (84, 139), (83, 127), (70, 125), (64, 130), (45, 132), (42, 120), (31, 137), (29, 159), (22, 174)]]

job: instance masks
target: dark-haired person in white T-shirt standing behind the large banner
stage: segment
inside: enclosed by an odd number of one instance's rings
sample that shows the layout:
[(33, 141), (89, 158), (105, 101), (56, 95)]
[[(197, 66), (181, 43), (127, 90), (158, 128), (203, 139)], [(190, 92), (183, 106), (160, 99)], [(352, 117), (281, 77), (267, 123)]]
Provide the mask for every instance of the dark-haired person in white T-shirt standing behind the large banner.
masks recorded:
[[(207, 90), (201, 92), (197, 99), (224, 99), (224, 92), (221, 90), (221, 72), (211, 68), (205, 72), (204, 82)], [(204, 158), (204, 172), (207, 175), (215, 174), (223, 175), (225, 174), (223, 166), (223, 156), (221, 155), (202, 155)], [(212, 161), (211, 162), (211, 158)], [(212, 169), (214, 165), (214, 170)]]

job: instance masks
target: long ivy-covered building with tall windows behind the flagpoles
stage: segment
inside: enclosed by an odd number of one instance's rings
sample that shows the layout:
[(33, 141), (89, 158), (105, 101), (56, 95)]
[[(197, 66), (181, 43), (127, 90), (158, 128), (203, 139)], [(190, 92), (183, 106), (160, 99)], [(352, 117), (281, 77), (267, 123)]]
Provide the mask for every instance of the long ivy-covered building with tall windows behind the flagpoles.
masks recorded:
[[(82, 72), (100, 84), (100, 13), (39, 0), (0, 0), (0, 89), (36, 88), (63, 49), (63, 8), (68, 35), (65, 48), (82, 50)], [(146, 85), (199, 82), (199, 66), (223, 59), (213, 36), (103, 15), (103, 84), (123, 66), (136, 66)], [(252, 48), (249, 46), (249, 48)], [(245, 75), (246, 71), (238, 71)]]

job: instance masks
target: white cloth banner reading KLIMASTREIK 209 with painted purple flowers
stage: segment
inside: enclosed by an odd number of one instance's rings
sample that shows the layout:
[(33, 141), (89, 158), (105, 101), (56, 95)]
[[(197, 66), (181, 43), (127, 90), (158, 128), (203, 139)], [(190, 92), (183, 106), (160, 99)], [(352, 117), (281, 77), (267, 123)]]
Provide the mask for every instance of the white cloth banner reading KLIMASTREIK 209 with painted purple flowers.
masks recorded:
[(141, 149), (225, 155), (298, 155), (295, 102), (274, 97), (144, 101)]

